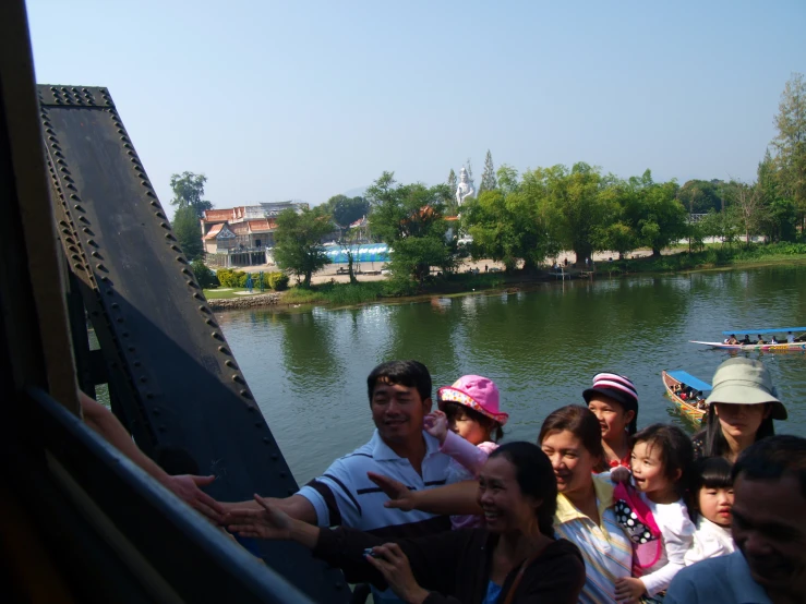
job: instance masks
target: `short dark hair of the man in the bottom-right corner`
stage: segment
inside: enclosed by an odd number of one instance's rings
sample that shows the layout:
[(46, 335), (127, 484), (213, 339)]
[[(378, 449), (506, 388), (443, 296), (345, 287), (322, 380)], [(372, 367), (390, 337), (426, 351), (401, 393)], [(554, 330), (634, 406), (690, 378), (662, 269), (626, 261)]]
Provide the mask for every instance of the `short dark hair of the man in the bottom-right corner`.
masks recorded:
[(781, 434), (754, 443), (733, 466), (733, 480), (742, 474), (767, 481), (792, 474), (801, 485), (801, 495), (806, 497), (806, 438)]

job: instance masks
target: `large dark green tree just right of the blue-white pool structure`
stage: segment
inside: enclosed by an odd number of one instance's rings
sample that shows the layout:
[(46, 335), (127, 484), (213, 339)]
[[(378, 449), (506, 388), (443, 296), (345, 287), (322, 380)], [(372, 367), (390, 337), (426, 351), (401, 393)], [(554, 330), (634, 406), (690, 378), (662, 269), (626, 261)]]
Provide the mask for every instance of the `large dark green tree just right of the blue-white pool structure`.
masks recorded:
[(444, 219), (446, 184), (426, 188), (421, 183), (398, 184), (394, 172), (384, 172), (366, 190), (370, 229), (390, 249), (393, 275), (414, 278), (422, 286), (436, 266), (445, 271), (456, 266), (456, 242), (446, 240)]

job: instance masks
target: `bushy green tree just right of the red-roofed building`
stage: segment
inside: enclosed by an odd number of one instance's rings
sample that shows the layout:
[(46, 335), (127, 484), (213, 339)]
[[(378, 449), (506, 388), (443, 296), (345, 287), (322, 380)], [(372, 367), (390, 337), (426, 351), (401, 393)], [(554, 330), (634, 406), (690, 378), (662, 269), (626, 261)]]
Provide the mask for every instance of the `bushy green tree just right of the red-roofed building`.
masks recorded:
[(311, 287), (311, 277), (330, 263), (325, 255), (322, 239), (334, 230), (333, 217), (322, 206), (302, 209), (284, 209), (277, 216), (274, 258), (284, 270), (303, 276), (302, 287)]

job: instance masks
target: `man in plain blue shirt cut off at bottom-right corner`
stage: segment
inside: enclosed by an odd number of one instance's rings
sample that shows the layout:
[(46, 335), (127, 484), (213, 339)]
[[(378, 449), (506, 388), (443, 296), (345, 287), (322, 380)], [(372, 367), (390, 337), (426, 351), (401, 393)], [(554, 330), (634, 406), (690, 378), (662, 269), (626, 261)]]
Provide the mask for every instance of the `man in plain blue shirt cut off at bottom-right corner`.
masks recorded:
[(806, 438), (770, 436), (733, 468), (737, 552), (681, 570), (665, 604), (779, 604), (806, 594)]

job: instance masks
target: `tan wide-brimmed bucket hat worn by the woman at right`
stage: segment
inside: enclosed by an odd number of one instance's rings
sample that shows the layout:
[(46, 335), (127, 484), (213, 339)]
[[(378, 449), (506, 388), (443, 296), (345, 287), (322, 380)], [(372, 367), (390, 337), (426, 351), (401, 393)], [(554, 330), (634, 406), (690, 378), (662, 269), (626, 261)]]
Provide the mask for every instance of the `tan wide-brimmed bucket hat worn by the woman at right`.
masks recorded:
[(713, 374), (713, 389), (706, 399), (708, 404), (724, 402), (731, 404), (772, 406), (773, 420), (785, 420), (786, 408), (778, 400), (770, 372), (760, 361), (751, 359), (729, 359)]

